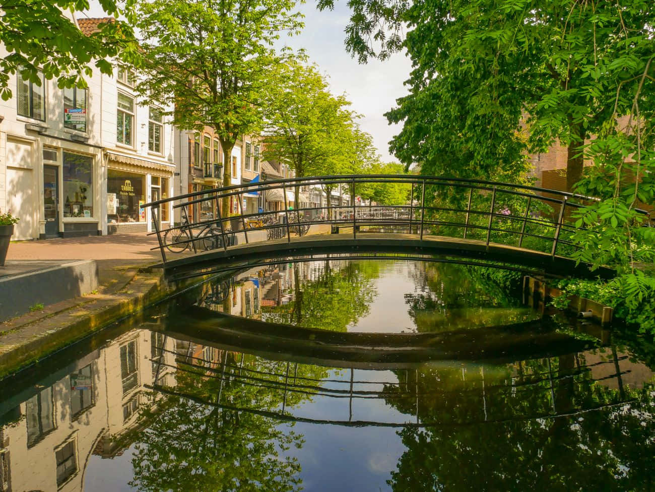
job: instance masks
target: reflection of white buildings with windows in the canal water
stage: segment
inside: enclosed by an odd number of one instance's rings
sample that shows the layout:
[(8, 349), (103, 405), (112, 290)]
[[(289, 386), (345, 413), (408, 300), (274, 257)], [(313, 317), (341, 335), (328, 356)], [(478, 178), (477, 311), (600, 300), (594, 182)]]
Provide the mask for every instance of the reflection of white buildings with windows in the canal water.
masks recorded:
[(155, 376), (175, 384), (165, 365), (174, 352), (161, 350), (174, 343), (160, 333), (130, 331), (52, 383), (43, 381), (47, 386), (30, 387), (0, 430), (0, 491), (82, 490), (90, 455), (121, 454), (130, 444), (121, 436), (136, 425), (137, 410), (154, 404), (143, 386)]

